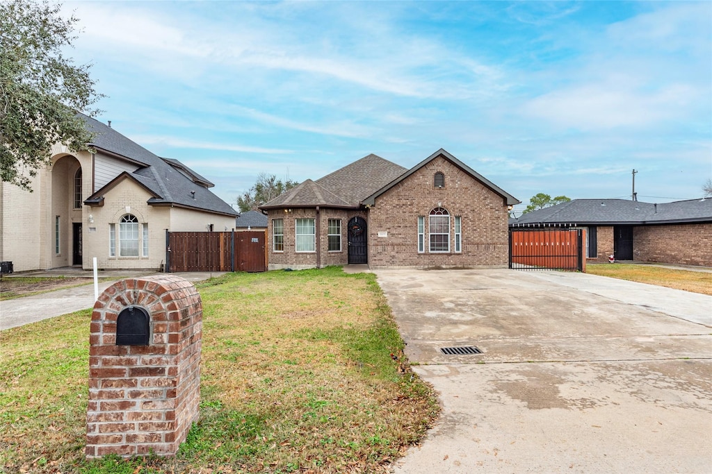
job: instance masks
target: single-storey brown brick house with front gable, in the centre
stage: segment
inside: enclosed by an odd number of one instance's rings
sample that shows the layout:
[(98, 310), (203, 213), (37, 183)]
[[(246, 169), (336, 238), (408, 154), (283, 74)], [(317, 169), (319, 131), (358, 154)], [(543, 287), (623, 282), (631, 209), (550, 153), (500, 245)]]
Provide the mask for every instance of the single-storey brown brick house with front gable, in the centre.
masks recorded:
[(519, 203), (447, 151), (411, 169), (369, 155), (262, 205), (269, 269), (506, 266)]

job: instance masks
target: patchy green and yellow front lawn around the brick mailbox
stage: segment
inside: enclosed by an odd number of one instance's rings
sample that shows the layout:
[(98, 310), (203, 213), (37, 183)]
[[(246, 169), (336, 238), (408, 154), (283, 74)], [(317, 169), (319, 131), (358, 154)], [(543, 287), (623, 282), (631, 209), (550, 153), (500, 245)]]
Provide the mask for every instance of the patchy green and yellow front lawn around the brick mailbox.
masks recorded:
[(437, 416), (373, 274), (227, 274), (198, 289), (200, 420), (175, 458), (84, 459), (87, 310), (0, 333), (0, 471), (386, 472)]

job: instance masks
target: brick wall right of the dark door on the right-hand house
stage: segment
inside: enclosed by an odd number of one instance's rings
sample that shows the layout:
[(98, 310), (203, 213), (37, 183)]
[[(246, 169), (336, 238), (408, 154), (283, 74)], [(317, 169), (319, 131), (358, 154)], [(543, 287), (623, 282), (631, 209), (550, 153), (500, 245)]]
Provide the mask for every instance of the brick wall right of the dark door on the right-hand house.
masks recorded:
[(712, 224), (634, 227), (633, 242), (641, 262), (712, 266)]

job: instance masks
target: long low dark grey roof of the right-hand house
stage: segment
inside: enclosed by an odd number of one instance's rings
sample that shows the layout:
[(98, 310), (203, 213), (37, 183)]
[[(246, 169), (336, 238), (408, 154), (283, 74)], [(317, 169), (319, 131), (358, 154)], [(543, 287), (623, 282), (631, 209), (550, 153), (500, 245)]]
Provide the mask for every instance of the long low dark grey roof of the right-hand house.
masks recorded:
[(510, 225), (642, 225), (712, 222), (712, 199), (642, 203), (624, 199), (575, 199), (527, 212)]

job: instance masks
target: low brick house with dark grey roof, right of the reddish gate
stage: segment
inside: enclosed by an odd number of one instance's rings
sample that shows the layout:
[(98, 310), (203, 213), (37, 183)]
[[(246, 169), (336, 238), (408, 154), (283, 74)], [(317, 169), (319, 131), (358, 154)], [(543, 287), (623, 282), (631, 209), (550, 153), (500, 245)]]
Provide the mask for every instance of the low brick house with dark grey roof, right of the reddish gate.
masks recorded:
[(616, 260), (712, 266), (712, 199), (651, 204), (575, 199), (528, 212), (510, 227), (585, 228), (588, 262)]

